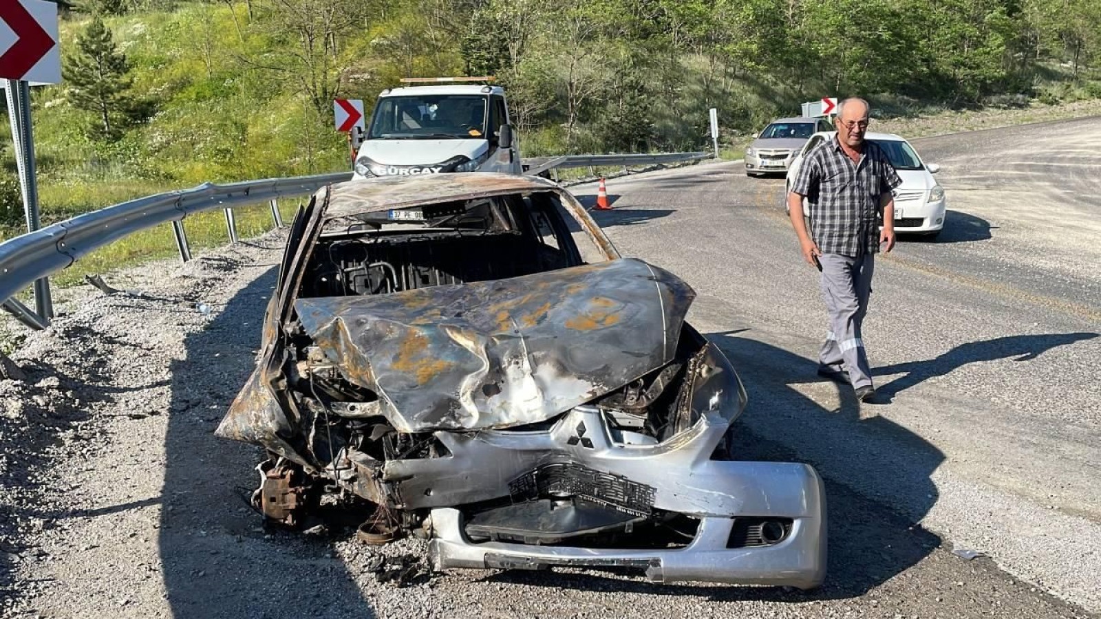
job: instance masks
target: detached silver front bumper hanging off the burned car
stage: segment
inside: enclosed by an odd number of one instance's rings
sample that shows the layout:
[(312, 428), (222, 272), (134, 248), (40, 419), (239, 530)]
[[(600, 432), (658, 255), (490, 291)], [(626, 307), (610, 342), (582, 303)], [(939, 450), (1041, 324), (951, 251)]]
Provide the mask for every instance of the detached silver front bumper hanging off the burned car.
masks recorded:
[[(475, 543), (464, 532), (462, 513), (432, 510), (429, 557), (437, 571), (450, 567), (548, 569), (636, 567), (653, 583), (706, 582), (814, 588), (826, 574), (826, 499), (821, 479), (808, 465), (707, 461), (707, 488), (686, 485), (686, 503), (721, 497), (730, 513), (700, 514), (693, 541), (671, 550)], [(766, 497), (766, 499), (765, 499)], [(738, 518), (784, 518), (792, 525), (772, 545), (728, 547)]]

